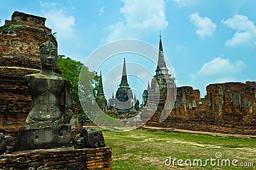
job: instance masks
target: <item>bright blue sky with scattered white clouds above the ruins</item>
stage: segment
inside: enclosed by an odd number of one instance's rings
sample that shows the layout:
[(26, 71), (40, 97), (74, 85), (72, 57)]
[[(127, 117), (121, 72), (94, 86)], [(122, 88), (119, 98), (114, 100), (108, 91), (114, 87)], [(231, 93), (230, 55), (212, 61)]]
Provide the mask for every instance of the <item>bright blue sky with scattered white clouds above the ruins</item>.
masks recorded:
[[(200, 89), (204, 97), (210, 83), (255, 81), (255, 6), (254, 0), (1, 0), (0, 25), (10, 20), (13, 11), (45, 17), (45, 25), (57, 32), (59, 54), (81, 62), (117, 39), (140, 39), (158, 46), (161, 31), (164, 55), (175, 71), (177, 86)], [(124, 57), (132, 62), (126, 55), (115, 58), (116, 66), (121, 64), (119, 78)], [(104, 80), (109, 67), (100, 69)], [(156, 69), (146, 67), (152, 73)], [(136, 67), (127, 67), (127, 74), (129, 69)], [(130, 79), (141, 96), (147, 82)], [(104, 85), (107, 99), (117, 86), (118, 81), (115, 87)]]

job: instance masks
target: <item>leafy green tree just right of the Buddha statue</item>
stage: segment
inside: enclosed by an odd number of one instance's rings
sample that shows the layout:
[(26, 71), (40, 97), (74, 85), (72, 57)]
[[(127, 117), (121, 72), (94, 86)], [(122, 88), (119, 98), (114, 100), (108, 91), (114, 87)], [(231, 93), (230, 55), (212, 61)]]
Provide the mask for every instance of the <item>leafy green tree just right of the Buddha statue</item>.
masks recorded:
[(95, 117), (95, 113), (99, 111), (95, 110), (97, 108), (95, 104), (97, 103), (94, 100), (94, 96), (99, 89), (99, 76), (95, 71), (89, 71), (88, 67), (84, 66), (83, 63), (65, 57), (65, 55), (58, 55), (58, 67), (61, 69), (63, 78), (67, 78), (70, 81), (73, 100), (83, 111), (79, 119), (87, 121), (89, 117), (92, 120)]

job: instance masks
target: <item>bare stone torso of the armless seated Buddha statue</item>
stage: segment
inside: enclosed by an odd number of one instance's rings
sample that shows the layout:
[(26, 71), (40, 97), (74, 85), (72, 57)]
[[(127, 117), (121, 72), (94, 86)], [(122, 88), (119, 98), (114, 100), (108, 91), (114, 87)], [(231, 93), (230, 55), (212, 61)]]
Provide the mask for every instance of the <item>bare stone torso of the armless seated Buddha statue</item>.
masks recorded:
[(25, 76), (32, 97), (32, 107), (26, 123), (60, 122), (63, 115), (65, 79), (43, 74)]

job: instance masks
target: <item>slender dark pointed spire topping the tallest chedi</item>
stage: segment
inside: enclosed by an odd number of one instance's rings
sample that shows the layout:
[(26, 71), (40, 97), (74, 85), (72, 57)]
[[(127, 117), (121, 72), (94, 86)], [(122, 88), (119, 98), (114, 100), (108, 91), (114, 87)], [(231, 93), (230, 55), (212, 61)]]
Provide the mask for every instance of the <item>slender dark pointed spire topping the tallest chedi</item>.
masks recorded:
[(168, 69), (166, 67), (166, 63), (165, 63), (165, 60), (164, 60), (161, 34), (160, 34), (160, 40), (159, 40), (159, 52), (158, 52), (156, 74), (157, 75), (159, 75), (159, 74), (168, 74)]

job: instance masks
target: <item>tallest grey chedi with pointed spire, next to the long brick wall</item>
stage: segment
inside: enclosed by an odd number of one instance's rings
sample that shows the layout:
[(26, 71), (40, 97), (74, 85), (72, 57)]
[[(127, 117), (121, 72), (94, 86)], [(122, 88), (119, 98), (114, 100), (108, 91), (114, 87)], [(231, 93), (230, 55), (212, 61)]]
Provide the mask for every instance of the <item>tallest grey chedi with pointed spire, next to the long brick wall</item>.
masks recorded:
[(143, 92), (143, 104), (141, 107), (145, 110), (141, 113), (141, 118), (147, 119), (151, 117), (153, 110), (156, 110), (156, 112), (151, 120), (156, 120), (158, 122), (161, 113), (168, 115), (170, 111), (172, 111), (172, 106), (175, 102), (175, 94), (175, 78), (173, 78), (172, 74), (168, 73), (166, 62), (164, 60), (162, 39), (160, 36), (156, 75), (152, 78), (151, 87), (148, 83), (147, 90), (144, 90)]

